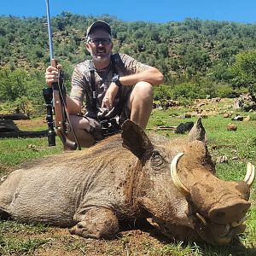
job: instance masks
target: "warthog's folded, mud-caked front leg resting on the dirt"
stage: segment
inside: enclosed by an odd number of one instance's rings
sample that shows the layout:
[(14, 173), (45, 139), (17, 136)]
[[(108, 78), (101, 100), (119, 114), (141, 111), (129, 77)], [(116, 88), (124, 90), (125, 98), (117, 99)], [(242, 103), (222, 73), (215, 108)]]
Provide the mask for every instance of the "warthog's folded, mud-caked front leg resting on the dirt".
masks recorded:
[(119, 231), (119, 222), (115, 214), (107, 208), (94, 208), (79, 215), (78, 224), (73, 226), (69, 232), (84, 238), (113, 238)]

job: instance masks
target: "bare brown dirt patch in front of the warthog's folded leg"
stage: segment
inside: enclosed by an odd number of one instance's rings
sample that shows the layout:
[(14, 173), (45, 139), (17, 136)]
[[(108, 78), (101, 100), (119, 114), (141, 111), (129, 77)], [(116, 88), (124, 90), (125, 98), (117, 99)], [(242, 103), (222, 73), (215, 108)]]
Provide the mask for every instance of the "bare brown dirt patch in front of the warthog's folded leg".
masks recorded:
[[(42, 248), (35, 255), (147, 255), (163, 244), (153, 235), (141, 230), (131, 230), (120, 233), (119, 238), (111, 241), (97, 241), (70, 236), (67, 230), (56, 232), (61, 240), (53, 241), (53, 247)], [(65, 241), (66, 240), (66, 241)]]

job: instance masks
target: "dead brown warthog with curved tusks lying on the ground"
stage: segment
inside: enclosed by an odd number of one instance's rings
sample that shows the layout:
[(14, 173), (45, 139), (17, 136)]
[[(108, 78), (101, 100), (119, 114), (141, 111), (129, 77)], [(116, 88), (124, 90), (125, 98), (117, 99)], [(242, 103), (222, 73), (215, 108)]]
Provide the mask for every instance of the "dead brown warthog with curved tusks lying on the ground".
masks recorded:
[(237, 182), (214, 172), (201, 119), (176, 139), (149, 139), (127, 120), (121, 136), (12, 172), (0, 186), (0, 215), (91, 238), (112, 238), (121, 220), (145, 218), (170, 237), (225, 244), (245, 229), (254, 168)]

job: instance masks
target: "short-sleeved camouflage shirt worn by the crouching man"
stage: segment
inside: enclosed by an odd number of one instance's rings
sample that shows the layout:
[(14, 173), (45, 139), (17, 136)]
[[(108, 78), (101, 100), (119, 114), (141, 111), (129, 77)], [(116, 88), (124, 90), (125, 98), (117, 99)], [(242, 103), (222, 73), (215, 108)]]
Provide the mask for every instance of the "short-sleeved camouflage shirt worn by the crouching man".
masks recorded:
[[(120, 77), (130, 75), (132, 73), (140, 73), (148, 69), (148, 65), (136, 61), (129, 55), (115, 54), (113, 55), (113, 65), (116, 72)], [(91, 88), (91, 77), (90, 77), (90, 60), (79, 63), (73, 71), (72, 78), (72, 90), (70, 97), (85, 103), (86, 115), (94, 117), (95, 114), (98, 116), (112, 118), (116, 114), (121, 114), (125, 108), (125, 104), (131, 93), (134, 84), (128, 86), (122, 86), (119, 89), (117, 96), (113, 101), (113, 109), (108, 111), (106, 108), (102, 109), (102, 99), (108, 90), (108, 86), (111, 84), (113, 78), (113, 68), (110, 63), (108, 67), (104, 69), (95, 70), (95, 81), (96, 81), (96, 108), (98, 113), (94, 113), (92, 106), (92, 88)]]

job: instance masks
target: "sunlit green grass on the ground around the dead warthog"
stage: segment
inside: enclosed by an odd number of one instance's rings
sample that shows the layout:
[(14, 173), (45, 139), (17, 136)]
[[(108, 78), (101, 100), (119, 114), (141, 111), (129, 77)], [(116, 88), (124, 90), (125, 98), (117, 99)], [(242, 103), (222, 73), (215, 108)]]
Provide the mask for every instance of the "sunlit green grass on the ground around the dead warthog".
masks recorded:
[[(221, 106), (224, 108), (224, 106)], [(179, 125), (187, 121), (195, 121), (197, 117), (181, 119), (179, 116), (189, 111), (189, 109), (175, 108), (165, 111), (154, 110), (148, 128), (153, 132), (159, 125)], [(236, 113), (233, 113), (236, 114)], [(242, 113), (247, 116), (248, 113)], [(222, 114), (202, 119), (202, 123), (207, 131), (207, 146), (213, 160), (219, 156), (226, 155), (226, 163), (217, 163), (217, 175), (224, 180), (241, 180), (246, 173), (248, 161), (254, 165), (256, 163), (256, 116), (250, 113), (249, 121), (233, 121), (225, 119)], [(230, 122), (237, 125), (236, 131), (227, 131), (226, 126)], [(167, 137), (187, 136), (177, 135), (173, 131), (156, 131)], [(49, 154), (57, 154), (62, 150), (61, 142), (57, 139), (57, 146), (49, 148), (47, 138), (33, 139), (1, 139), (0, 140), (0, 177), (4, 174), (4, 168), (16, 166), (26, 160), (43, 157)], [(150, 239), (144, 241), (143, 247), (137, 245), (131, 247), (131, 236), (124, 236), (115, 244), (119, 244), (122, 253), (118, 249), (111, 247), (109, 241), (99, 241), (100, 246), (106, 247), (108, 255), (172, 255), (172, 256), (228, 256), (228, 255), (256, 255), (256, 185), (253, 184), (251, 191), (252, 207), (247, 213), (247, 229), (239, 237), (239, 242), (226, 247), (212, 247), (207, 244), (198, 245), (195, 243), (184, 243), (177, 241), (172, 243), (159, 242), (155, 244)], [(54, 235), (53, 231), (38, 224), (17, 224), (15, 222), (0, 223), (0, 255), (23, 255), (33, 254), (40, 251), (42, 247), (54, 247), (56, 241), (61, 241), (61, 247), (71, 253), (70, 255), (90, 255), (92, 245), (90, 240), (84, 242), (80, 238), (73, 236)], [(32, 235), (32, 238), (22, 236)], [(35, 236), (39, 234), (39, 236)], [(47, 236), (46, 238), (43, 236)], [(34, 237), (35, 236), (35, 237)], [(61, 237), (61, 238), (60, 238)], [(93, 250), (96, 250), (94, 248)], [(72, 254), (73, 253), (73, 254)], [(77, 254), (76, 254), (77, 253)], [(69, 254), (68, 254), (69, 255)], [(94, 255), (94, 254), (93, 254)], [(96, 254), (99, 255), (99, 254)], [(107, 254), (104, 254), (107, 255)]]

